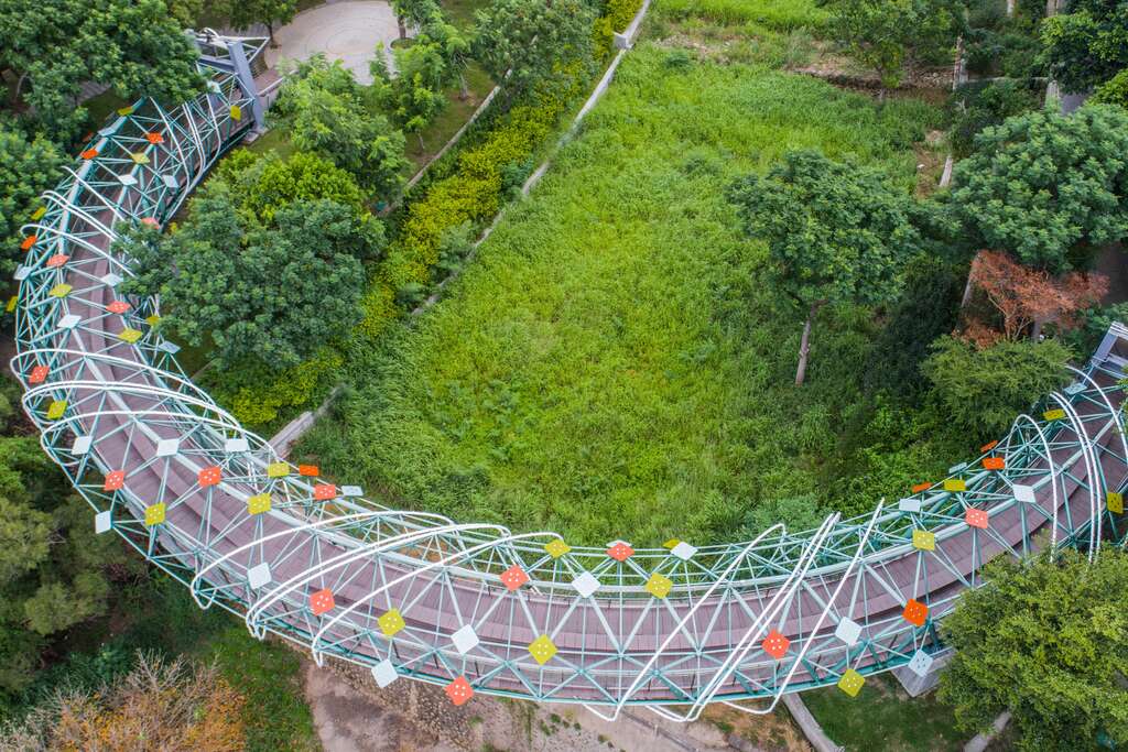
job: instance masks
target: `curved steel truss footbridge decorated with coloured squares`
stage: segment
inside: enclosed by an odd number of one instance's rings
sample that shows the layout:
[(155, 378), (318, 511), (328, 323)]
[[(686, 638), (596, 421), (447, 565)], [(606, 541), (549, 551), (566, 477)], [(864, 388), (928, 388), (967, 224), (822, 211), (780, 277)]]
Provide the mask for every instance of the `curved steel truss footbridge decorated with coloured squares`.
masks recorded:
[(856, 693), (869, 673), (927, 671), (936, 622), (995, 556), (1123, 540), (1119, 325), (1065, 393), (950, 477), (742, 543), (569, 547), (387, 508), (290, 466), (184, 375), (157, 301), (115, 290), (130, 275), (115, 227), (162, 223), (252, 126), (255, 92), (233, 67), (208, 71), (193, 101), (121, 110), (44, 194), (10, 303), (12, 370), (96, 528), (253, 634), (370, 666), (381, 687), (443, 684), (458, 704), (484, 691), (688, 719), (766, 698), (765, 711), (785, 691)]

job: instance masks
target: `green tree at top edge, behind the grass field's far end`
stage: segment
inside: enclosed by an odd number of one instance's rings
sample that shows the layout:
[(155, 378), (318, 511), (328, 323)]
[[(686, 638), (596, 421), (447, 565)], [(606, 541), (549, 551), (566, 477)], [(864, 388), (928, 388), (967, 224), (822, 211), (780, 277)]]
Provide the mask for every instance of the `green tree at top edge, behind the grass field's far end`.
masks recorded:
[(834, 0), (831, 29), (851, 54), (878, 74), (880, 97), (897, 88), (923, 57), (955, 44), (955, 17), (944, 0)]

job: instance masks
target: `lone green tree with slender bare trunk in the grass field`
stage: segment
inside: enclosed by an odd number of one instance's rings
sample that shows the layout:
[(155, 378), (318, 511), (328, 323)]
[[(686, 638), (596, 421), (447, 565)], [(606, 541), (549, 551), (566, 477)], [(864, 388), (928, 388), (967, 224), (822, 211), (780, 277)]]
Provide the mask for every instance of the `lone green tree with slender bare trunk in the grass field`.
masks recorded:
[(919, 253), (910, 196), (880, 172), (817, 151), (790, 151), (766, 177), (730, 191), (744, 230), (768, 247), (768, 274), (803, 312), (795, 384), (807, 374), (811, 325), (825, 306), (896, 299)]

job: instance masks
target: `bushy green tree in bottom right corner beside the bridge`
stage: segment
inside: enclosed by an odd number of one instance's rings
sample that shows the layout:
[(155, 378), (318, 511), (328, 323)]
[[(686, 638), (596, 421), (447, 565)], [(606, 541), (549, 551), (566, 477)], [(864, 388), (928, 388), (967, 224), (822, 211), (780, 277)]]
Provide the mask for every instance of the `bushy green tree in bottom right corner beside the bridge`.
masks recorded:
[(1002, 711), (1020, 750), (1113, 749), (1128, 741), (1128, 556), (1101, 549), (1056, 560), (994, 563), (943, 625), (955, 647), (940, 698), (959, 726), (981, 731)]

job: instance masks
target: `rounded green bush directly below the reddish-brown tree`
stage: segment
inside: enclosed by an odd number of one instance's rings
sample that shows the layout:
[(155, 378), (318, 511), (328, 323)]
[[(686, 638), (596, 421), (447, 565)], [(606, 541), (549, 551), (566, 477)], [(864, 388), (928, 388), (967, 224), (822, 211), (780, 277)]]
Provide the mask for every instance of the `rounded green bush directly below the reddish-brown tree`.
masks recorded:
[(999, 436), (1019, 413), (1069, 381), (1072, 353), (1056, 339), (975, 345), (941, 337), (922, 366), (951, 419), (980, 436)]

